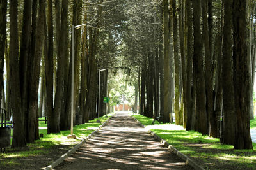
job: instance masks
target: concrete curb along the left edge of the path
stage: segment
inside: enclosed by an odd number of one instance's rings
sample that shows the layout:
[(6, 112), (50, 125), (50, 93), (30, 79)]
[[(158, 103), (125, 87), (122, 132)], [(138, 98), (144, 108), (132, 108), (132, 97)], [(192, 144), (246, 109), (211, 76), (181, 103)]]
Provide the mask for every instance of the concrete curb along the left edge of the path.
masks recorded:
[(69, 157), (72, 153), (76, 152), (76, 150), (78, 148), (80, 148), (81, 145), (83, 145), (86, 141), (88, 141), (89, 139), (91, 139), (93, 137), (93, 135), (95, 133), (97, 133), (100, 129), (102, 129), (102, 127), (104, 127), (109, 120), (111, 120), (111, 118), (113, 118), (115, 115), (109, 117), (108, 120), (106, 120), (106, 122), (104, 122), (104, 124), (100, 125), (100, 127), (98, 129), (96, 129), (95, 131), (93, 131), (91, 134), (89, 134), (86, 138), (83, 139), (83, 141), (81, 141), (80, 143), (78, 143), (76, 146), (74, 146), (73, 148), (71, 148), (70, 150), (68, 150), (67, 153), (65, 153), (64, 155), (62, 155), (60, 158), (58, 158), (56, 161), (52, 162), (51, 165), (47, 166), (45, 168), (45, 170), (52, 170), (54, 169), (54, 167), (58, 166), (61, 162), (63, 162), (63, 160), (65, 160), (67, 157)]

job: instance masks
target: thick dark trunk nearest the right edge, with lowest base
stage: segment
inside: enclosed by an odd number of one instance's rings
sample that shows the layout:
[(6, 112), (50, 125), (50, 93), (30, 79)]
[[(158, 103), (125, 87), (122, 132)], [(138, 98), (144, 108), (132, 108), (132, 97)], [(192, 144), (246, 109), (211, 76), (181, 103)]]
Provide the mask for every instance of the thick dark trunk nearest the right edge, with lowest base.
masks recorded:
[[(246, 46), (246, 0), (233, 3), (233, 60), (234, 60), (234, 101), (235, 101), (235, 149), (253, 149), (250, 134), (250, 59)], [(249, 104), (248, 104), (249, 103)]]

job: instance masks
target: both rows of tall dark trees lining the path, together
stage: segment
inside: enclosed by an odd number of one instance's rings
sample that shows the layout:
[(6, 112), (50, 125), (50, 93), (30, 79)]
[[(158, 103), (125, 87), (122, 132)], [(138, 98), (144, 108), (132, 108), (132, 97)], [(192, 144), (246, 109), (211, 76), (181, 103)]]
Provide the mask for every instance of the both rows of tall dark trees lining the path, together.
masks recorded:
[(38, 139), (42, 108), (48, 133), (70, 128), (70, 31), (83, 23), (74, 37), (78, 123), (97, 115), (99, 69), (107, 68), (101, 100), (110, 93), (108, 74), (121, 68), (143, 115), (173, 122), (174, 110), (176, 124), (212, 137), (223, 115), (223, 143), (252, 148), (255, 1), (9, 0), (0, 7), (0, 89), (4, 61), (7, 74), (0, 98), (6, 94), (13, 115), (12, 147)]

